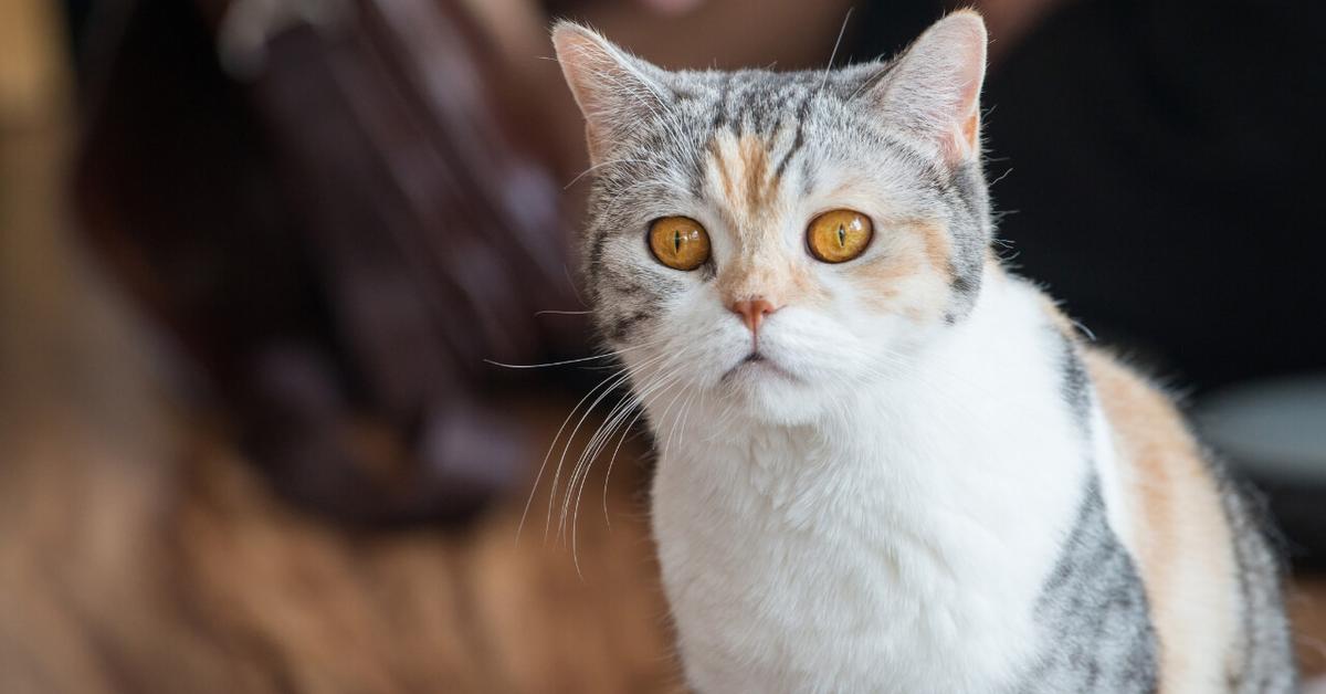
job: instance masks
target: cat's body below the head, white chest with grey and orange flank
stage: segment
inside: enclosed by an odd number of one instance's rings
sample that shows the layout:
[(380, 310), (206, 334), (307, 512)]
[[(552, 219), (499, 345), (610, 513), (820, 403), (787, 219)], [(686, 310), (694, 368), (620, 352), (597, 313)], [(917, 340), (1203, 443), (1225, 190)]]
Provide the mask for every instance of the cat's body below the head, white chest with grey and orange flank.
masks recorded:
[[(1187, 433), (1158, 393), (1091, 354), (1118, 398), (1106, 406), (1155, 409), (1123, 422), (1147, 431), (1120, 431), (1040, 292), (993, 275), (926, 360), (843, 403), (859, 418), (774, 429), (692, 405), (684, 430), (663, 427), (654, 528), (692, 685), (1290, 690), (1274, 559), (1254, 537), (1237, 568), (1232, 491), (1189, 451), (1120, 451), (1115, 437)], [(1164, 516), (1138, 518), (1148, 504)]]

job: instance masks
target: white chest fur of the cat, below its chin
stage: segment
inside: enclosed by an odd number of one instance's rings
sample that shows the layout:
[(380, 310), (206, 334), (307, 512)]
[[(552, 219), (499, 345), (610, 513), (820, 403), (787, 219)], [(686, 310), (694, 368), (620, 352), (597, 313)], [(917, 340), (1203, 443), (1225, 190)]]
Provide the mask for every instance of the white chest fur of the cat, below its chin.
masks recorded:
[(992, 691), (1024, 670), (1090, 456), (1034, 295), (985, 295), (831, 421), (656, 423), (654, 531), (697, 690)]

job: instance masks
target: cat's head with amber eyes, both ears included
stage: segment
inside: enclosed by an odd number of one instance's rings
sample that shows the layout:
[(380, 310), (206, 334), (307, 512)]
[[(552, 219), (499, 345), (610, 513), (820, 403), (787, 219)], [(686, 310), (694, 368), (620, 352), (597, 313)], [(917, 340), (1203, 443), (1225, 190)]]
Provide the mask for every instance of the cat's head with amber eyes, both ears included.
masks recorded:
[(586, 289), (638, 394), (672, 378), (808, 421), (972, 309), (975, 12), (827, 72), (668, 72), (569, 23), (553, 41), (587, 122)]

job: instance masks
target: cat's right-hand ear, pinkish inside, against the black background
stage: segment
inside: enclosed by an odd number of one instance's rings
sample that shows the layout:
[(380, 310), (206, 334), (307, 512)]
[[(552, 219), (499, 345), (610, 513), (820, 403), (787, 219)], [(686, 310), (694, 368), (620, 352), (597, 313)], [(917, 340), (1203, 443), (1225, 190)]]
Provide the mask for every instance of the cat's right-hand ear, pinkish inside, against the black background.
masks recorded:
[(951, 165), (980, 155), (985, 20), (955, 12), (926, 29), (869, 98), (891, 123), (934, 145)]

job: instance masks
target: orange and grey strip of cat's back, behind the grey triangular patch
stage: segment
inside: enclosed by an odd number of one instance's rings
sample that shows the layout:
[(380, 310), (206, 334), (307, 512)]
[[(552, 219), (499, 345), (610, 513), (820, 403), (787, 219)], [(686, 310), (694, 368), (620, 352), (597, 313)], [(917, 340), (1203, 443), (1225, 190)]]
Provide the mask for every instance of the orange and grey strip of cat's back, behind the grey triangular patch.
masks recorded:
[(1103, 350), (1081, 350), (1115, 451), (1111, 499), (1144, 585), (1159, 690), (1292, 691), (1278, 559), (1249, 500), (1172, 399)]

